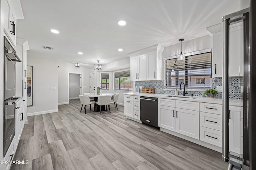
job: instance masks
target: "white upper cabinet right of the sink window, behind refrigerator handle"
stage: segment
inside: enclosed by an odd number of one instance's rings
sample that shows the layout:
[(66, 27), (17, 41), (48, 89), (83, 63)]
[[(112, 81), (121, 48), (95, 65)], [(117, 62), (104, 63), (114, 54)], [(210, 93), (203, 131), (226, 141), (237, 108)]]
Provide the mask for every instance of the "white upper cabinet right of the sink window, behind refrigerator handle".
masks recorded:
[[(212, 33), (212, 77), (222, 77), (222, 49), (223, 49), (223, 33), (222, 23), (207, 27)], [(229, 46), (229, 76), (244, 75), (244, 36), (243, 23), (235, 23), (230, 25), (230, 46)]]

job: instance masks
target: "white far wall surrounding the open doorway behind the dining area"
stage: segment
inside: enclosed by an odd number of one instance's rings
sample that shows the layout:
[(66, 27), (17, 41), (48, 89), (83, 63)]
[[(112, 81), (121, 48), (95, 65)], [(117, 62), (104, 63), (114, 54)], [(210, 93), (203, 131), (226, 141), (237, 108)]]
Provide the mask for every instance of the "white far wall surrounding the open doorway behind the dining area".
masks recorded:
[[(58, 61), (58, 104), (68, 104), (68, 74), (82, 74), (82, 94), (90, 92), (90, 70), (88, 68), (75, 67), (74, 64)], [(56, 67), (56, 68), (57, 68)]]

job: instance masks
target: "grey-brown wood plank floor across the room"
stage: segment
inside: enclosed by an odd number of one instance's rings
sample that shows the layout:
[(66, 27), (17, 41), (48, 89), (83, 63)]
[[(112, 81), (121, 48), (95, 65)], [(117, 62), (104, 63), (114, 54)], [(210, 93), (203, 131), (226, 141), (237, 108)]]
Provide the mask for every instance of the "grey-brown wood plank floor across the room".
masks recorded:
[[(137, 123), (124, 107), (80, 113), (80, 101), (58, 113), (28, 117), (11, 170), (225, 170), (221, 154)], [(92, 108), (93, 110), (94, 108)]]

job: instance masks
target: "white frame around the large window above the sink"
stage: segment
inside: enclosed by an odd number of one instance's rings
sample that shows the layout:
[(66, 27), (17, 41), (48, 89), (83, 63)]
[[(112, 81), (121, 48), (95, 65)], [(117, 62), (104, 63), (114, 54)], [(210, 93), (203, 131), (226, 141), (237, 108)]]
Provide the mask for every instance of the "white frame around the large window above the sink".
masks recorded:
[[(199, 54), (202, 54), (202, 53), (211, 53), (211, 75), (210, 75), (210, 78), (212, 78), (212, 49), (204, 49), (204, 50), (200, 50), (200, 51), (194, 51), (194, 52), (190, 52), (190, 53), (184, 53), (184, 57), (185, 59), (187, 59), (188, 56), (192, 56), (192, 55), (199, 55)], [(171, 57), (166, 57), (166, 58), (163, 58), (162, 59), (162, 64), (163, 64), (163, 78), (164, 78), (164, 90), (174, 90), (174, 89), (177, 89), (178, 86), (176, 87), (167, 87), (166, 86), (166, 60), (169, 60), (169, 59), (178, 59), (180, 55), (174, 55), (174, 56), (171, 56)], [(186, 63), (186, 62), (185, 62)], [(188, 74), (188, 70), (185, 70), (185, 76), (186, 74)], [(188, 77), (188, 76), (187, 76)], [(205, 81), (204, 81), (205, 82)], [(204, 83), (205, 84), (205, 83)], [(206, 89), (209, 89), (210, 87), (188, 87), (188, 84), (186, 84), (185, 86), (186, 89), (189, 89), (189, 90), (206, 90)]]

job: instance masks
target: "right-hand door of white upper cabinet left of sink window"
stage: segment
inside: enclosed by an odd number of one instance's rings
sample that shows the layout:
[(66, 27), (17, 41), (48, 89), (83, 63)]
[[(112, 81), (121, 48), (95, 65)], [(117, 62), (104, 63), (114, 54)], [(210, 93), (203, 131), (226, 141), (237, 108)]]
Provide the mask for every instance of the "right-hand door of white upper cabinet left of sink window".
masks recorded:
[(146, 53), (147, 80), (156, 80), (156, 51)]

